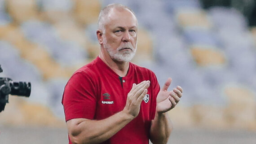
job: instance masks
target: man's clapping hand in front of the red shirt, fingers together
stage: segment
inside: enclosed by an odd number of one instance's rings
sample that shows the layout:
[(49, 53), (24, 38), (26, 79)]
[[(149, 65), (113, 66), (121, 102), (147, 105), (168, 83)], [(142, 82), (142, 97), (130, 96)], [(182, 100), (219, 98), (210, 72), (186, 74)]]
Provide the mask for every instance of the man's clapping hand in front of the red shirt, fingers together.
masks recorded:
[(139, 84), (132, 84), (132, 89), (127, 95), (126, 105), (123, 112), (129, 117), (135, 118), (140, 112), (141, 101), (146, 95), (147, 88), (150, 86), (150, 81), (143, 81)]

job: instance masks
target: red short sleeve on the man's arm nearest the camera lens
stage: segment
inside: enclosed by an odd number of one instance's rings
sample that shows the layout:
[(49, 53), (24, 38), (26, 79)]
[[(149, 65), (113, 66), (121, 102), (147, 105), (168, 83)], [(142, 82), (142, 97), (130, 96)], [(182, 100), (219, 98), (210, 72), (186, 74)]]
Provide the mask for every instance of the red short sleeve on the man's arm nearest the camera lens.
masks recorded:
[(66, 121), (73, 118), (93, 119), (97, 97), (95, 84), (88, 74), (72, 75), (64, 89), (62, 105)]

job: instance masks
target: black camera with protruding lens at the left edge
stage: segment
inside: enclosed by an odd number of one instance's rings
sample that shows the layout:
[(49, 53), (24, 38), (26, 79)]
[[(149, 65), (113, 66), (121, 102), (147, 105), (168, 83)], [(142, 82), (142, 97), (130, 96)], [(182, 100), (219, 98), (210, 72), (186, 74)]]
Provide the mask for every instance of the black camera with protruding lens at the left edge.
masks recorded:
[[(0, 65), (0, 73), (3, 72)], [(9, 103), (9, 94), (29, 97), (31, 93), (30, 82), (14, 82), (10, 78), (0, 77), (0, 112)]]

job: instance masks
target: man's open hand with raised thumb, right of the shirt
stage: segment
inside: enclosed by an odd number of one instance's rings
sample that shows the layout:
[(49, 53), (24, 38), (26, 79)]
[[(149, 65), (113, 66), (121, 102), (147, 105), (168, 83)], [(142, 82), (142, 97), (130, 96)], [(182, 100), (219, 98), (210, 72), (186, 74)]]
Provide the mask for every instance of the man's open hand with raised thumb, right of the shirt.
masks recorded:
[(167, 89), (171, 83), (172, 79), (168, 78), (167, 81), (164, 83), (163, 88), (159, 91), (157, 95), (157, 113), (165, 113), (170, 109), (173, 109), (180, 101), (183, 90), (180, 86), (177, 86), (176, 88), (173, 88), (172, 91), (168, 91)]

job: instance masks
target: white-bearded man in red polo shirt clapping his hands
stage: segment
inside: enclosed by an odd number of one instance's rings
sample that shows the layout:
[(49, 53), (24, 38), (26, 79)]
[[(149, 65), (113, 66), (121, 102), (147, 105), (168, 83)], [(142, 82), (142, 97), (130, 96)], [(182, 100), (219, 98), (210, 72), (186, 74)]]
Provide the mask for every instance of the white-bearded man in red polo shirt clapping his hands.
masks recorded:
[(160, 89), (155, 74), (132, 64), (137, 18), (131, 9), (110, 4), (97, 30), (99, 57), (77, 70), (63, 93), (69, 144), (165, 144), (172, 131), (168, 111), (180, 101), (168, 78)]

